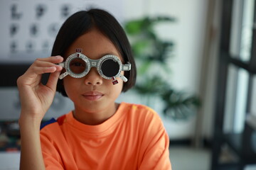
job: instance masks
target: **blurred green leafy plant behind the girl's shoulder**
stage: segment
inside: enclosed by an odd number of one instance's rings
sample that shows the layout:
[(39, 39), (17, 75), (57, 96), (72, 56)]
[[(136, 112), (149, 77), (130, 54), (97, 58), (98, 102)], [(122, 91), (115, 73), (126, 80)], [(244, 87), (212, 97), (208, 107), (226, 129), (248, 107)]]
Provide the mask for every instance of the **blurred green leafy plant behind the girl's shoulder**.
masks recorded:
[(138, 79), (134, 90), (145, 98), (159, 97), (164, 102), (164, 115), (174, 120), (184, 120), (198, 108), (201, 102), (197, 96), (176, 91), (171, 87), (171, 69), (168, 60), (174, 43), (162, 40), (156, 34), (159, 23), (173, 23), (175, 18), (168, 16), (144, 17), (127, 21), (124, 29), (132, 45), (137, 62)]

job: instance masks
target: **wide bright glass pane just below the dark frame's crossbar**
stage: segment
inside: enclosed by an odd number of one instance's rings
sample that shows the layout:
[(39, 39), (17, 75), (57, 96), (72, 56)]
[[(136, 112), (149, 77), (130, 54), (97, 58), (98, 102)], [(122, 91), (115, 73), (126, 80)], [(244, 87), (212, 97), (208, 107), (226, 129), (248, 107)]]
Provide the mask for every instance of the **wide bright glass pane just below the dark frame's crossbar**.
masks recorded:
[(225, 98), (224, 132), (242, 132), (245, 122), (249, 75), (230, 64)]

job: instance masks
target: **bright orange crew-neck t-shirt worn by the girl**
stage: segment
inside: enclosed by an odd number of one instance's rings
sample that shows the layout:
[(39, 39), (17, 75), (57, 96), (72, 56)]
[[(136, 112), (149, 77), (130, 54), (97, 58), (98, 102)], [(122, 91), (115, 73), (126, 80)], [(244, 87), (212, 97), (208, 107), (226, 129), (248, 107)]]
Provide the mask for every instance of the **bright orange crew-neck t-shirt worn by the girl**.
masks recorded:
[(70, 112), (41, 128), (46, 169), (171, 169), (169, 137), (159, 115), (121, 103), (100, 125), (85, 125)]

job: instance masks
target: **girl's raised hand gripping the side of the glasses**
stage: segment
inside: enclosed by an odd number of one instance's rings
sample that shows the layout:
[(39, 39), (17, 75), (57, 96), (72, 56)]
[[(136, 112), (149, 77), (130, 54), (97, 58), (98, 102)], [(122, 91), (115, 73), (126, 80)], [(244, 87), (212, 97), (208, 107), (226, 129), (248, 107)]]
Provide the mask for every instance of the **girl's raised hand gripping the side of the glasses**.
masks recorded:
[[(60, 62), (63, 62), (63, 57), (60, 56), (37, 59), (21, 77), (18, 77), (20, 118), (32, 118), (41, 122), (53, 102), (58, 77), (63, 69), (57, 65)], [(46, 85), (41, 83), (44, 73), (50, 73)]]

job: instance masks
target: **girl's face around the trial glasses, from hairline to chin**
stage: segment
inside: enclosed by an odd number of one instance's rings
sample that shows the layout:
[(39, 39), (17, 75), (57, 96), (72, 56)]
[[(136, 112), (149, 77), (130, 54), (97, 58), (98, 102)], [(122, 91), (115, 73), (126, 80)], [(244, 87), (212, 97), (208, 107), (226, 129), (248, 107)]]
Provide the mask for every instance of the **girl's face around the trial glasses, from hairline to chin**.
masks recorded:
[[(96, 29), (75, 40), (68, 48), (65, 58), (75, 53), (76, 48), (81, 48), (82, 54), (92, 60), (100, 59), (104, 55), (115, 55), (122, 61), (112, 42)], [(97, 69), (92, 67), (85, 77), (76, 79), (67, 76), (63, 79), (63, 84), (68, 97), (75, 103), (75, 109), (80, 108), (84, 112), (93, 113), (111, 110), (110, 107), (114, 107), (114, 101), (123, 86), (122, 79), (117, 80), (119, 83), (113, 85), (111, 79), (102, 78)]]

